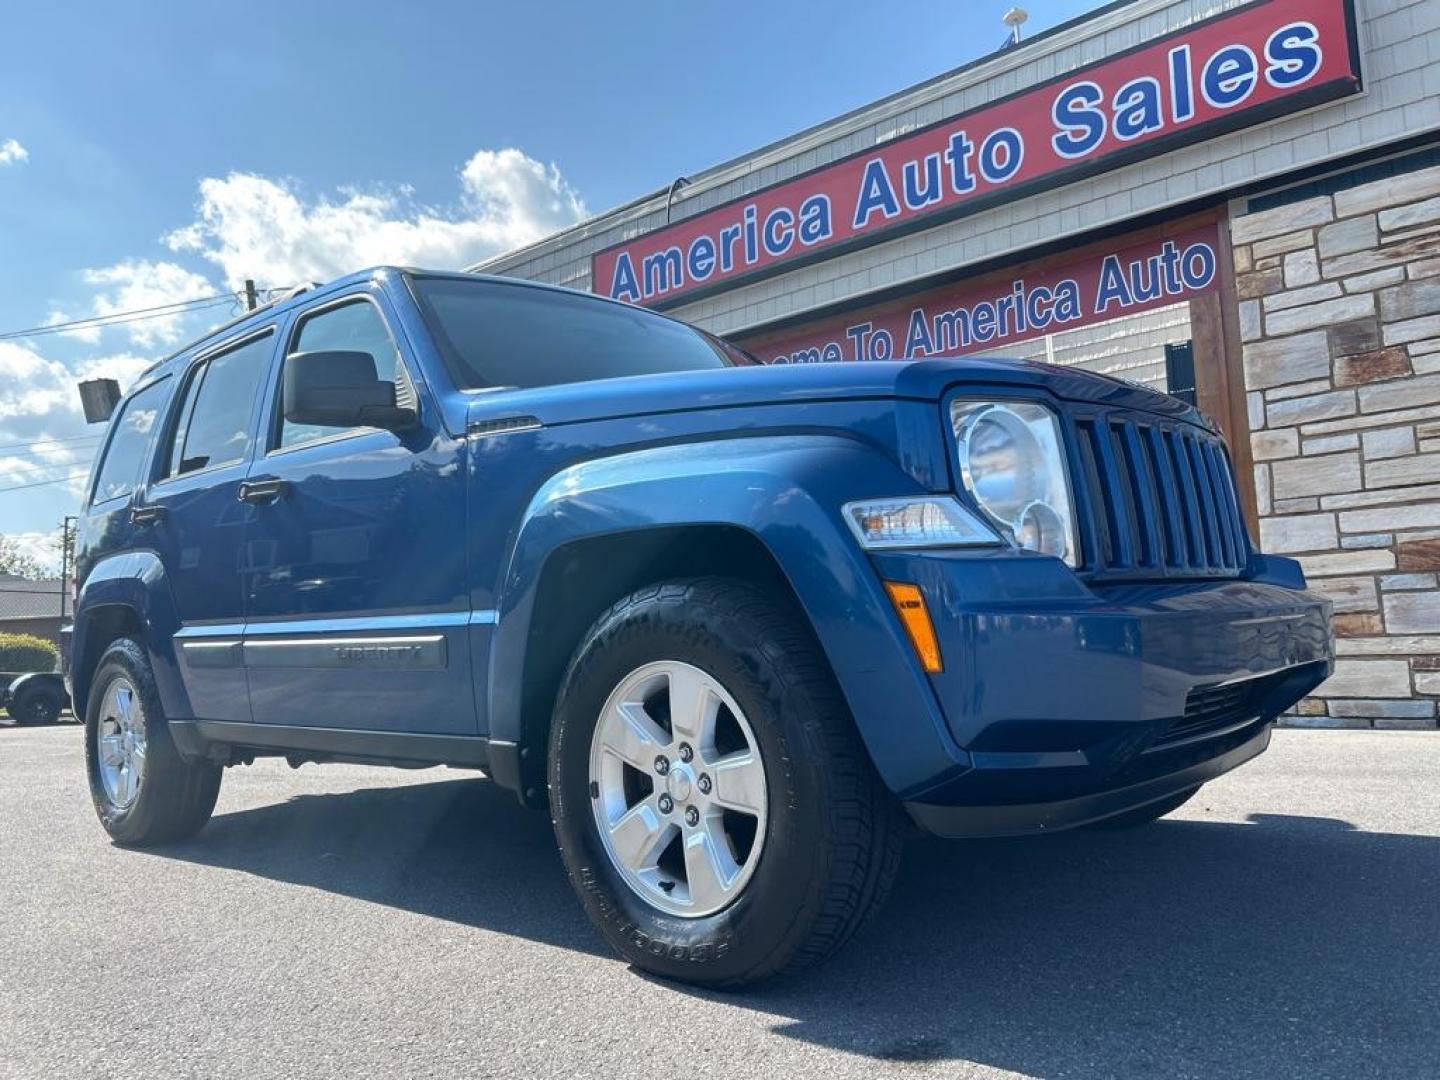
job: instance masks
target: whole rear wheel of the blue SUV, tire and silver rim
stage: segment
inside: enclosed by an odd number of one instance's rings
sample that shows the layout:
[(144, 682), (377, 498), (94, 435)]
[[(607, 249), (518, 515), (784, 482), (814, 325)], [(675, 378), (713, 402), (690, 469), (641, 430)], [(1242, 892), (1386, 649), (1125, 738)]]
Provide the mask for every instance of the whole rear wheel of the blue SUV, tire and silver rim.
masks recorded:
[(187, 762), (166, 724), (144, 649), (121, 638), (105, 649), (85, 710), (91, 801), (117, 844), (193, 837), (215, 809), (219, 765)]

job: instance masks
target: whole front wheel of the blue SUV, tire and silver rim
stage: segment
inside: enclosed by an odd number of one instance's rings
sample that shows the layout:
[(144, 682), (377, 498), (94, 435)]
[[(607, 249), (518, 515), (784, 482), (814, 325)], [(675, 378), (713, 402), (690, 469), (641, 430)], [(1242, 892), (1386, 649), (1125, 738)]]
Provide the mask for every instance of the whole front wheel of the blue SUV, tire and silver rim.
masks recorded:
[(809, 629), (737, 580), (667, 582), (600, 616), (556, 704), (550, 805), (605, 937), (703, 985), (828, 956), (900, 858), (899, 808)]

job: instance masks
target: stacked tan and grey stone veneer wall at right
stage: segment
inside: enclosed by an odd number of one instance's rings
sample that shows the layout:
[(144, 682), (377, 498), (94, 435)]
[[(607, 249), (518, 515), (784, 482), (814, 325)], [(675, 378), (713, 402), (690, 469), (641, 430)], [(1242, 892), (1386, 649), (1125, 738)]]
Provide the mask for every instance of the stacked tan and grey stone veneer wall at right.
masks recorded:
[(1233, 219), (1264, 550), (1335, 602), (1289, 723), (1436, 727), (1440, 168)]

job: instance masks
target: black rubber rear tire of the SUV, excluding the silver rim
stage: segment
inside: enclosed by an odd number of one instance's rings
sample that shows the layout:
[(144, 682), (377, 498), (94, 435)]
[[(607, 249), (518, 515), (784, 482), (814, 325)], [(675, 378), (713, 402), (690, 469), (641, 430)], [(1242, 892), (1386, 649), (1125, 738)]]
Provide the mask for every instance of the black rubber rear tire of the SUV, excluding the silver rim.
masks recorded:
[[(140, 789), (120, 805), (99, 772), (99, 723), (105, 694), (115, 680), (134, 687), (144, 720), (145, 763)], [(220, 793), (222, 768), (187, 762), (170, 737), (160, 694), (145, 651), (128, 638), (109, 644), (95, 668), (85, 708), (85, 769), (101, 825), (122, 847), (148, 847), (189, 840), (210, 819)]]

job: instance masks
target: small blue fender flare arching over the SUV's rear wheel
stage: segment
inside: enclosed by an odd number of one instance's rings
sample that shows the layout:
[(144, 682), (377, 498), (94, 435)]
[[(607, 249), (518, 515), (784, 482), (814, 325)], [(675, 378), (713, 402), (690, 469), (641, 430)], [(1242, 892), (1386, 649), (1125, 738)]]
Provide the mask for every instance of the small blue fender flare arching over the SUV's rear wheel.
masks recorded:
[(91, 641), (98, 618), (104, 611), (124, 608), (135, 615), (145, 631), (141, 642), (150, 655), (156, 674), (156, 687), (166, 716), (190, 716), (190, 698), (180, 678), (176, 662), (174, 632), (180, 629), (170, 579), (160, 556), (154, 552), (124, 552), (101, 559), (85, 575), (75, 602), (75, 621), (71, 638), (72, 696), (84, 708), (89, 696), (89, 675), (94, 672), (99, 648)]

